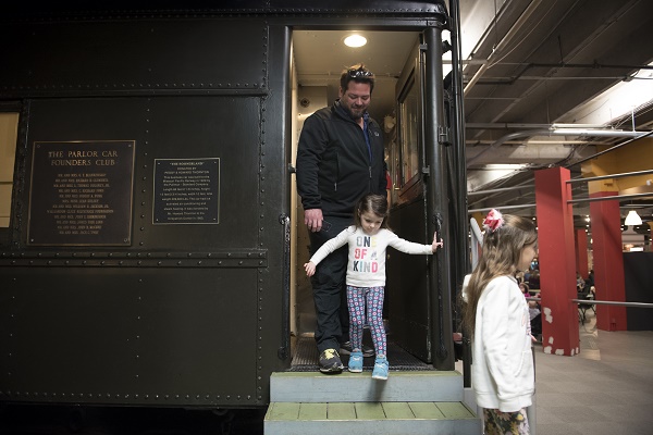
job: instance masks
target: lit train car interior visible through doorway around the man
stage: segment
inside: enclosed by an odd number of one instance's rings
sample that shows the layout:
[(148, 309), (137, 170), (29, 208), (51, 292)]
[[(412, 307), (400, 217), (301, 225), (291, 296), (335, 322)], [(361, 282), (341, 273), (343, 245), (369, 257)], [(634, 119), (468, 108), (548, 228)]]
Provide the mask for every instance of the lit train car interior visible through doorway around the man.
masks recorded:
[[(346, 47), (344, 39), (353, 33), (364, 36), (367, 45), (359, 48)], [(369, 112), (384, 129), (387, 161), (389, 150), (392, 148), (390, 144), (396, 140), (397, 83), (407, 60), (415, 53), (419, 35), (419, 32), (345, 29), (293, 32), (293, 165), (304, 121), (316, 110), (329, 107), (337, 99), (341, 72), (356, 63), (364, 63), (375, 75)], [(395, 176), (392, 178), (398, 179)], [(315, 331), (315, 307), (310, 282), (303, 269), (303, 264), (309, 258), (310, 243), (294, 178), (292, 188), (291, 209), (294, 225), (291, 235), (291, 332), (296, 336), (310, 336)]]

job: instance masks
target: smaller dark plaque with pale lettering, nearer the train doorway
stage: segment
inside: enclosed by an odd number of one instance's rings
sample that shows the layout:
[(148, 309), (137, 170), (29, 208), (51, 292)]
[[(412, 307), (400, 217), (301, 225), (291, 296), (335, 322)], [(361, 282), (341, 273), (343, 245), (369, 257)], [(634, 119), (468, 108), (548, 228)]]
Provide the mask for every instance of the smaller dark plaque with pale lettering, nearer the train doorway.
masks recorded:
[(220, 223), (220, 159), (156, 159), (153, 224)]

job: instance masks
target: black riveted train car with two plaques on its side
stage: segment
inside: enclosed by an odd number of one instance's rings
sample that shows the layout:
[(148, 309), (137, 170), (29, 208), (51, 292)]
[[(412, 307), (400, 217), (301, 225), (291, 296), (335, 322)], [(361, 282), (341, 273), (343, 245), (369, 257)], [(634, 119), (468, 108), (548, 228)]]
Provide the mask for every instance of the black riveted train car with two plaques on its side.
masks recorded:
[[(267, 405), (270, 374), (291, 364), (293, 29), (403, 28), (434, 47), (444, 4), (28, 3), (0, 18), (0, 112), (16, 125), (0, 401)], [(418, 66), (439, 83), (440, 50)], [(424, 82), (423, 101), (441, 100)], [(424, 135), (441, 144), (432, 105)], [(442, 181), (438, 152), (422, 163)], [(417, 210), (446, 212), (445, 191)], [(422, 221), (422, 236), (439, 225)], [(451, 336), (446, 298), (415, 303), (434, 312), (424, 359), (451, 370), (429, 350)]]

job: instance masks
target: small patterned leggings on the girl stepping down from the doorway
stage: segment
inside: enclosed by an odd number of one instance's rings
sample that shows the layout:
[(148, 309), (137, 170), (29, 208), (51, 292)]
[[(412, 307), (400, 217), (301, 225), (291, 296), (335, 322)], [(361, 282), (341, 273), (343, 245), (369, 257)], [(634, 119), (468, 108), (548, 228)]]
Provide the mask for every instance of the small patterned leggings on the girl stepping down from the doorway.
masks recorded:
[(370, 325), (377, 356), (385, 356), (387, 343), (383, 327), (383, 297), (385, 287), (347, 286), (347, 307), (349, 308), (349, 339), (352, 349), (362, 347), (362, 327), (366, 321)]

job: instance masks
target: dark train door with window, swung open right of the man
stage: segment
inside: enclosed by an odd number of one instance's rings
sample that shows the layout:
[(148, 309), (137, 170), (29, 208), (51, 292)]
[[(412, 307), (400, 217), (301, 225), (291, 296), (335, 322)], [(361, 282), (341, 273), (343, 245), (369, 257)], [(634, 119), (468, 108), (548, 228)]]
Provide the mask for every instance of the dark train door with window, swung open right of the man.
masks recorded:
[[(396, 85), (397, 124), (390, 147), (393, 191), (390, 225), (401, 237), (426, 238), (423, 165), (423, 64), (414, 47)], [(428, 274), (426, 257), (389, 251), (386, 316), (393, 340), (429, 359)]]

